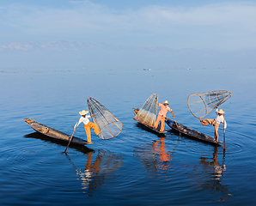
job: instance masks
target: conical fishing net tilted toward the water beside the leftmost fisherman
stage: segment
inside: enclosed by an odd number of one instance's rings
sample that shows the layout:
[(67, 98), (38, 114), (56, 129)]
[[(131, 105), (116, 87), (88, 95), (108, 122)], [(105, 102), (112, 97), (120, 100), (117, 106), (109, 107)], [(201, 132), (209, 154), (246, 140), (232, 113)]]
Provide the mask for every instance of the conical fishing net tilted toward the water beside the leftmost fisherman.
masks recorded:
[(99, 101), (94, 100), (91, 97), (88, 98), (87, 101), (92, 119), (94, 123), (98, 125), (99, 130), (101, 130), (99, 137), (106, 140), (118, 136), (123, 129), (123, 124), (119, 119), (113, 116), (113, 113), (105, 106), (101, 105)]

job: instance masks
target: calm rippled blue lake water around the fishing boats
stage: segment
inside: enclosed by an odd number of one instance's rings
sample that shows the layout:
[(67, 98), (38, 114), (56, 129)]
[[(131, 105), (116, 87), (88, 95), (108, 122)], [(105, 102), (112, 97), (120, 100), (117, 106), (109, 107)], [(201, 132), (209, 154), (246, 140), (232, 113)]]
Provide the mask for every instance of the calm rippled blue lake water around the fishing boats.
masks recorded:
[[(169, 70), (1, 69), (0, 205), (256, 205), (256, 68)], [(175, 118), (213, 136), (189, 111), (194, 92), (228, 90), (226, 152), (139, 127), (132, 107), (153, 93)], [(93, 97), (124, 124), (119, 136), (70, 147), (22, 121), (72, 134)], [(168, 118), (172, 115), (168, 113)], [(211, 112), (207, 118), (215, 118)], [(220, 140), (223, 137), (220, 127)], [(75, 136), (86, 138), (80, 125)]]

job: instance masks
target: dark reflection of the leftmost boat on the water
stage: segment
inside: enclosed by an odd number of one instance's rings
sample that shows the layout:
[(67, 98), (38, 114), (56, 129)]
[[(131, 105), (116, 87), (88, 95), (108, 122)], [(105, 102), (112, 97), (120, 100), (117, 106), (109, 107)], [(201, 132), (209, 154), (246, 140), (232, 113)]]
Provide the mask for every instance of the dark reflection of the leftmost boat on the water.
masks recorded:
[[(65, 147), (67, 146), (67, 143), (65, 141), (42, 135), (39, 132), (33, 132), (33, 133), (25, 135), (24, 137), (40, 139), (40, 140), (43, 140), (46, 142), (56, 143), (56, 144), (59, 144), (59, 145), (65, 146)], [(80, 144), (70, 144), (70, 148), (75, 148), (77, 151), (82, 152), (84, 154), (87, 154), (88, 152), (94, 152), (94, 149), (88, 148), (88, 147), (86, 147), (84, 145), (80, 145)]]

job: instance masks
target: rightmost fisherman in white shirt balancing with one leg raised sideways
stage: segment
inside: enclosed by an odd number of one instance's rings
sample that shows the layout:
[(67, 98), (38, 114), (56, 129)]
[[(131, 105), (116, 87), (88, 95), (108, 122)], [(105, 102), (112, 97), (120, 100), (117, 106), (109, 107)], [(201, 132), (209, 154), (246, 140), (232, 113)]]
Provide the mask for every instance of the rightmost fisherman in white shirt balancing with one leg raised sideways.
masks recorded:
[[(216, 118), (215, 119), (206, 118), (206, 119), (202, 120), (201, 118), (199, 118), (200, 122), (203, 126), (208, 125), (208, 124), (211, 124), (214, 126), (214, 137), (216, 139), (216, 142), (218, 142), (218, 137), (219, 137), (219, 134), (218, 134), (219, 124), (221, 124), (221, 123), (224, 124), (224, 130), (226, 130), (226, 128), (227, 128), (227, 123), (222, 115), (225, 112), (222, 111), (222, 109), (220, 109), (218, 111), (217, 108), (218, 107), (216, 106)], [(219, 142), (219, 143), (221, 143), (221, 142)]]

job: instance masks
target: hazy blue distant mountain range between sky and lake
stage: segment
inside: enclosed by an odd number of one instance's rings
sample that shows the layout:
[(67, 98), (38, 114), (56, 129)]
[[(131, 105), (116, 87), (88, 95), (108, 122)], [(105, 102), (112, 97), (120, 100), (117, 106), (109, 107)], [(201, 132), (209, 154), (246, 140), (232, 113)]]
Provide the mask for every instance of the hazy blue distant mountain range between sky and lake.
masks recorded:
[(256, 50), (174, 50), (88, 42), (10, 42), (0, 44), (0, 67), (243, 68), (255, 67)]

